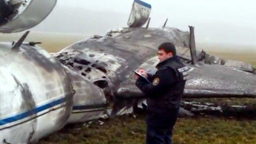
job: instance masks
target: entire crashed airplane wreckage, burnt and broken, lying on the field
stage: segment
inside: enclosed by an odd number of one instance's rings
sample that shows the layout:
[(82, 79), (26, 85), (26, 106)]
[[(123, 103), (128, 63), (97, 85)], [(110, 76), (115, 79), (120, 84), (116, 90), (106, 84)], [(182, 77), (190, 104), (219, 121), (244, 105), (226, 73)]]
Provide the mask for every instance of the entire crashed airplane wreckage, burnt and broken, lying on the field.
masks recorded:
[[(0, 4), (0, 32), (11, 33), (43, 21), (56, 0), (0, 0)], [(135, 0), (129, 27), (52, 55), (37, 43), (23, 42), (28, 32), (17, 42), (0, 43), (0, 143), (37, 142), (66, 123), (101, 117), (112, 102), (112, 114), (131, 106), (123, 99), (143, 103), (132, 70), (156, 71), (156, 48), (166, 41), (176, 45), (189, 67), (184, 97), (256, 97), (256, 77), (249, 64), (231, 67), (196, 51), (194, 27), (183, 32), (166, 27), (166, 21), (163, 27), (149, 28), (150, 11), (151, 5)]]

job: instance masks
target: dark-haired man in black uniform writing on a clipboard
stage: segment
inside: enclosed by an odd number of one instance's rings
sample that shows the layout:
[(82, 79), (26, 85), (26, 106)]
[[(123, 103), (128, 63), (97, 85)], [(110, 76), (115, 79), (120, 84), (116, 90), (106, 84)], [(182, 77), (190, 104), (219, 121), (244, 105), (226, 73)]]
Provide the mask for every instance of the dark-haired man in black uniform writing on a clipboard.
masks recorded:
[(176, 56), (172, 43), (162, 43), (158, 47), (158, 59), (160, 63), (155, 75), (139, 70), (152, 83), (135, 76), (136, 86), (147, 96), (146, 144), (171, 144), (188, 68)]

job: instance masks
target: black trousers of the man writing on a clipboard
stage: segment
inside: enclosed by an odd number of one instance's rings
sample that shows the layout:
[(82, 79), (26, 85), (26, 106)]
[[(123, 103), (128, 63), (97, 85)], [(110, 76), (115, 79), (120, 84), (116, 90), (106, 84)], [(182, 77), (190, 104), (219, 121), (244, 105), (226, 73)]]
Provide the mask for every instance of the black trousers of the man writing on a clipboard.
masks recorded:
[(168, 112), (148, 112), (146, 117), (146, 144), (172, 144), (172, 129), (178, 117), (178, 110)]

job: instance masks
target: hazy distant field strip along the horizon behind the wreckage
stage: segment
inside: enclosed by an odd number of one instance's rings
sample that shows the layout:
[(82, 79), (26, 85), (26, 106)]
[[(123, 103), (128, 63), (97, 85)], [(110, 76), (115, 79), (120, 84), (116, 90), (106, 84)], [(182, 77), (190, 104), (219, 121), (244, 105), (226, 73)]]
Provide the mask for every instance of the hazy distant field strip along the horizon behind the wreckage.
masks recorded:
[[(0, 34), (0, 42), (2, 41), (18, 41), (22, 34), (25, 32), (12, 33), (12, 34)], [(25, 41), (40, 41), (42, 44), (38, 46), (50, 50), (51, 47), (55, 44), (57, 51), (69, 46), (78, 41), (87, 39), (93, 35), (85, 35), (85, 34), (69, 34), (69, 33), (59, 33), (59, 32), (39, 32), (39, 31), (31, 31), (28, 34)], [(222, 50), (225, 52), (232, 52), (233, 50), (237, 50), (237, 52), (245, 51), (256, 53), (256, 47), (249, 44), (226, 44), (226, 43), (206, 43), (206, 42), (198, 42), (196, 41), (196, 47), (198, 50)], [(57, 52), (55, 51), (55, 52)]]

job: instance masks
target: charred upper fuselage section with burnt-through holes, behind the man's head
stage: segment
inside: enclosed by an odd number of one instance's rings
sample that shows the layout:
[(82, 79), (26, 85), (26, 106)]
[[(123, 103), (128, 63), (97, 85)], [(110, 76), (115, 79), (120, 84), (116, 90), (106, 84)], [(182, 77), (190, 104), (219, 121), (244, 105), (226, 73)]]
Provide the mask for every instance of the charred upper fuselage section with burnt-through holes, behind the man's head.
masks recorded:
[[(107, 33), (106, 37), (80, 41), (54, 56), (105, 89), (106, 95), (113, 95), (122, 83), (127, 82), (132, 70), (156, 54), (160, 43), (172, 41), (184, 48), (188, 46), (188, 34), (175, 28), (123, 28)], [(162, 37), (158, 39), (160, 35)]]

